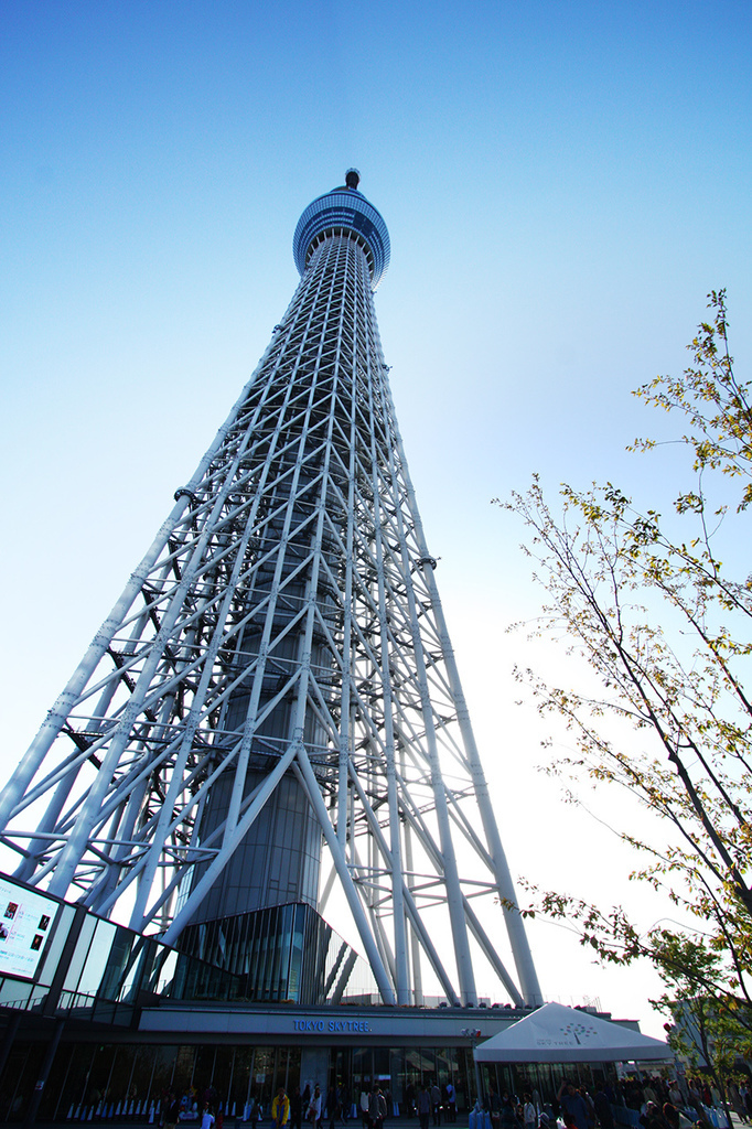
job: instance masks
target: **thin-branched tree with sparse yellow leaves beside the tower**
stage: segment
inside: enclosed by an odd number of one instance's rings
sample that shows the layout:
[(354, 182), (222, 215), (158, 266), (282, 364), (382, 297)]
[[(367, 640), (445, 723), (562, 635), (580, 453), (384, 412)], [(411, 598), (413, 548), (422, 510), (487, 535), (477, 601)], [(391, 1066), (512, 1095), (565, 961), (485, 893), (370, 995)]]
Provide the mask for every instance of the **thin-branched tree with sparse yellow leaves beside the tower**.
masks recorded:
[[(548, 595), (536, 633), (563, 633), (596, 675), (593, 693), (522, 674), (541, 712), (575, 736), (558, 770), (626, 788), (661, 816), (659, 841), (623, 838), (645, 857), (636, 876), (668, 894), (685, 927), (644, 934), (620, 908), (540, 891), (523, 912), (574, 920), (604, 960), (649, 957), (666, 984), (661, 1003), (700, 1001), (725, 1061), (729, 1031), (752, 1052), (752, 578), (729, 575), (719, 549), (752, 541), (752, 390), (734, 375), (725, 291), (708, 297), (690, 367), (636, 393), (683, 422), (691, 485), (667, 516), (612, 483), (563, 485), (554, 514), (534, 479), (505, 505), (530, 531)], [(628, 749), (609, 718), (633, 728)]]

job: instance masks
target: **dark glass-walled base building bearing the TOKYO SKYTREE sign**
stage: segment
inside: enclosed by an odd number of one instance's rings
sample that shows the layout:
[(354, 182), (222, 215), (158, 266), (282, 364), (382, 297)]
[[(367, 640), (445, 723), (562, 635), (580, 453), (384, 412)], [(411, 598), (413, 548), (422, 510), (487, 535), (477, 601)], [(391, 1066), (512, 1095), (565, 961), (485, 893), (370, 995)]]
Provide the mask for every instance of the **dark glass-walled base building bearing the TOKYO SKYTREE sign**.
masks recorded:
[[(470, 1045), (455, 1045), (447, 1034), (455, 1022), (466, 1022), (464, 1012), (367, 1012), (365, 963), (305, 903), (195, 925), (185, 943), (189, 949), (178, 952), (61, 902), (36, 980), (0, 980), (7, 1022), (0, 1122), (25, 1121), (38, 1102), (42, 1121), (158, 1123), (159, 1103), (173, 1086), (191, 1102), (209, 1095), (239, 1123), (252, 1099), (268, 1111), (278, 1086), (317, 1082), (324, 1094), (340, 1086), (358, 1124), (360, 1092), (375, 1083), (388, 1095), (390, 1117), (410, 1120), (426, 1083), (452, 1082), (462, 1114), (475, 1100), (479, 1079), (484, 1089), (491, 1082), (517, 1093), (532, 1086), (544, 1100), (561, 1080), (563, 1068), (556, 1065), (476, 1070)], [(210, 951), (216, 960), (224, 952), (226, 966), (203, 960)], [(342, 1004), (352, 1004), (358, 984), (359, 1007), (331, 1006), (346, 986)], [(270, 1006), (254, 1009), (250, 1000)], [(207, 1022), (191, 1026), (199, 1001)], [(287, 1006), (307, 1001), (307, 1021)], [(18, 1031), (10, 1023), (14, 1010)], [(221, 1022), (212, 1026), (217, 1016)], [(377, 1016), (383, 1033), (369, 1035)], [(443, 1024), (432, 1040), (426, 1029), (431, 1016)], [(299, 1030), (321, 1034), (300, 1039)], [(330, 1034), (334, 1030), (348, 1034)], [(592, 1084), (589, 1068), (579, 1074)]]

